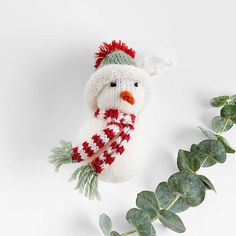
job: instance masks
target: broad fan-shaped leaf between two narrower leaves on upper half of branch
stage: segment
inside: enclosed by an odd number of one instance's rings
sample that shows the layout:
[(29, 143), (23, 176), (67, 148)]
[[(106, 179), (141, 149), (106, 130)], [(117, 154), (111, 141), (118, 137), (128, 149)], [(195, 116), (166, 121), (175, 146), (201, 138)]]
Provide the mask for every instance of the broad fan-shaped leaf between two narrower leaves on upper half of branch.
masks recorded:
[(210, 167), (216, 163), (224, 163), (226, 152), (222, 143), (218, 140), (207, 139), (200, 142), (191, 155), (200, 162), (200, 167)]

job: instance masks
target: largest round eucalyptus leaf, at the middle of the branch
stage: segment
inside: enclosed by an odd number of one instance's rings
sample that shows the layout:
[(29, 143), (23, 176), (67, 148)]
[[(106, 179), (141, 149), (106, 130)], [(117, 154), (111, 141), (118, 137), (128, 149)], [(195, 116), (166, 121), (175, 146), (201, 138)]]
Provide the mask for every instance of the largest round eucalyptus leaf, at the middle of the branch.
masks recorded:
[(196, 176), (187, 172), (178, 172), (168, 179), (170, 191), (182, 199), (188, 206), (195, 207), (205, 198), (205, 186)]

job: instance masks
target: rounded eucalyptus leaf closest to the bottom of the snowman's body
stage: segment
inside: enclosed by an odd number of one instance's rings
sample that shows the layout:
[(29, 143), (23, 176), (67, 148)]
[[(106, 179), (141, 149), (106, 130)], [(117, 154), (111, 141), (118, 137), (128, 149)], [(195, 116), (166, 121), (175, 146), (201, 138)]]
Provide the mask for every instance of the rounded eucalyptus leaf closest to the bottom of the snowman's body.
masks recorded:
[(148, 213), (151, 219), (154, 219), (158, 215), (158, 211), (160, 210), (157, 196), (154, 192), (151, 191), (143, 191), (139, 193), (136, 199), (136, 205), (141, 210)]

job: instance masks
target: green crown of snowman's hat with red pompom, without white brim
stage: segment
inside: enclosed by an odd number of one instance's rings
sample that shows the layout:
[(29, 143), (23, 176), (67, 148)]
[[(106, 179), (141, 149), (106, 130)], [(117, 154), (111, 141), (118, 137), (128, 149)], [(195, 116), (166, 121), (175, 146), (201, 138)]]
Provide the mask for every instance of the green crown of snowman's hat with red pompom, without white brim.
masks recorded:
[(135, 51), (128, 48), (125, 43), (113, 40), (110, 44), (103, 43), (99, 47), (100, 51), (95, 54), (95, 68), (110, 64), (133, 65), (135, 66)]

